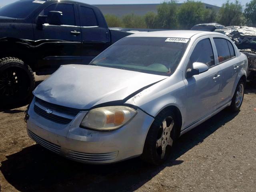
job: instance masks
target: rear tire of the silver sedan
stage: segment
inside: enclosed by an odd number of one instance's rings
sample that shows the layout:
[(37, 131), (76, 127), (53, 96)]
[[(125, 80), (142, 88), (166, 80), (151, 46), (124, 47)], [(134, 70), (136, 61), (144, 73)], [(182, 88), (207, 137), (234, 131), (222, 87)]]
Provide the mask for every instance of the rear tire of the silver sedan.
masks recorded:
[[(238, 94), (237, 94), (238, 92), (240, 92), (240, 88), (242, 88), (241, 97), (238, 96)], [(245, 90), (245, 82), (244, 82), (244, 80), (241, 79), (236, 86), (236, 91), (234, 93), (231, 105), (229, 107), (230, 112), (236, 113), (240, 110), (240, 107), (242, 106), (242, 102), (244, 100), (244, 90)], [(239, 103), (238, 103), (237, 98), (240, 98), (240, 99), (238, 99)]]

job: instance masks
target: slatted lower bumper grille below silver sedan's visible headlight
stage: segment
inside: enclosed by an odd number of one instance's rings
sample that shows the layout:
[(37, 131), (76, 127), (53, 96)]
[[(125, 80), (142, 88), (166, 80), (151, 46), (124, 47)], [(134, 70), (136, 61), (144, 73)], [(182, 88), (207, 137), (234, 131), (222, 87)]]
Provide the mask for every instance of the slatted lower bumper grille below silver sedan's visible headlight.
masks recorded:
[(74, 160), (79, 161), (108, 161), (114, 160), (118, 155), (118, 151), (110, 153), (101, 153), (101, 154), (89, 154), (81, 153), (76, 151), (70, 151), (68, 157)]

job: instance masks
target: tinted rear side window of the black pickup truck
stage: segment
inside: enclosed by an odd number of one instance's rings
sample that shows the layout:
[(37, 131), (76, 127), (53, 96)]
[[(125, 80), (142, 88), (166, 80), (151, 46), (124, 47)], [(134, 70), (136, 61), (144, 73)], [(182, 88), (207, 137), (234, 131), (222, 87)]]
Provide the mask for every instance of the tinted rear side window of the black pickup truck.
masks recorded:
[(81, 26), (83, 27), (91, 27), (91, 26), (98, 26), (98, 22), (94, 11), (92, 8), (80, 6), (81, 8)]

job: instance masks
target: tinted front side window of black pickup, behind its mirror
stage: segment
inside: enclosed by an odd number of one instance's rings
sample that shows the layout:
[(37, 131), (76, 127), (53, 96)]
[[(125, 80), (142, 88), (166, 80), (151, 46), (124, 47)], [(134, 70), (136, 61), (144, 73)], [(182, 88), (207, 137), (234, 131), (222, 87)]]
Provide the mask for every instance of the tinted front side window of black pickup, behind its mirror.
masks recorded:
[(47, 8), (45, 8), (40, 15), (48, 15), (50, 11), (60, 11), (62, 12), (62, 25), (76, 25), (75, 20), (75, 12), (74, 12), (74, 6), (73, 4), (67, 4), (67, 3), (56, 3), (51, 4)]

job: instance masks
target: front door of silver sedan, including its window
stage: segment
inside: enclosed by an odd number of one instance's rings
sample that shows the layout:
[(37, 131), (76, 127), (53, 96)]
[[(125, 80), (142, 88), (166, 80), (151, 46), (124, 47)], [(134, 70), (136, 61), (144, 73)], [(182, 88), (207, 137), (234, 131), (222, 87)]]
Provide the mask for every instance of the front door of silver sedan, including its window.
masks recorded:
[(186, 70), (192, 68), (194, 62), (208, 65), (209, 70), (184, 80), (187, 92), (185, 128), (216, 110), (220, 88), (220, 67), (215, 65), (211, 42), (210, 38), (205, 37), (197, 40), (188, 60)]

